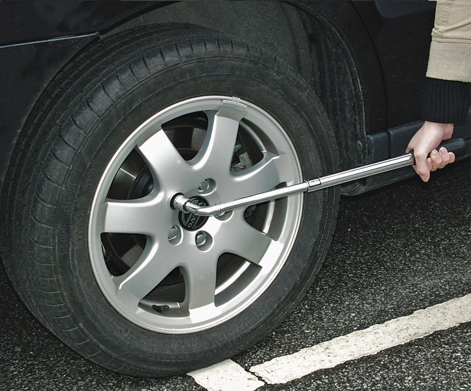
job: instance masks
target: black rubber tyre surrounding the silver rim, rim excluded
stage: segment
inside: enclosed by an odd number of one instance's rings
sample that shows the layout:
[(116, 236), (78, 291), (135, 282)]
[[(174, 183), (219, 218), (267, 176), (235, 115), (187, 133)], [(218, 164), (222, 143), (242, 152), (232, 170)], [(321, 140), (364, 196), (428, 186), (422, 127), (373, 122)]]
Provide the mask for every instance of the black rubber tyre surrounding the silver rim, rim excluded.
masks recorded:
[(27, 120), (2, 194), (1, 256), (31, 312), (85, 358), (138, 376), (168, 376), (246, 350), (279, 325), (311, 285), (333, 234), (339, 191), (305, 197), (293, 250), (267, 291), (212, 329), (164, 335), (116, 312), (89, 261), (97, 182), (144, 119), (179, 100), (237, 96), (290, 134), (306, 179), (338, 168), (329, 121), (307, 84), (260, 49), (199, 28), (133, 29), (90, 45), (54, 79)]

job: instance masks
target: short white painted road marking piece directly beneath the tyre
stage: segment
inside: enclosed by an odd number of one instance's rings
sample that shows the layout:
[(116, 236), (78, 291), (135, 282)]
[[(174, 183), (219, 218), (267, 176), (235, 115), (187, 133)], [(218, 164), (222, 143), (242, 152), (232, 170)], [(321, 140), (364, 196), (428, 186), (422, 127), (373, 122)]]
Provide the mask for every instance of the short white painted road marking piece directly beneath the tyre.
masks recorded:
[(208, 391), (254, 391), (265, 385), (232, 360), (190, 372), (188, 375)]

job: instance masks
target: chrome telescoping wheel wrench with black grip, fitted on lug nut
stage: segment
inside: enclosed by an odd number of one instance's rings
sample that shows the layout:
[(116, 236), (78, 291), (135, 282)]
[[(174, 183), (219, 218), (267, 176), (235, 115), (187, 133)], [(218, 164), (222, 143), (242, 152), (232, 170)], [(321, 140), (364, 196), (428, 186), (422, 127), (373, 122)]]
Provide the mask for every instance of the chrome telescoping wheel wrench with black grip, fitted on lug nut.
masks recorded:
[[(443, 142), (437, 149), (445, 147), (449, 152), (459, 155), (465, 151), (466, 145), (463, 139), (452, 139)], [(193, 213), (199, 216), (221, 215), (233, 209), (255, 205), (260, 202), (271, 201), (273, 199), (286, 196), (293, 196), (301, 193), (311, 193), (316, 190), (325, 189), (330, 186), (341, 185), (346, 182), (366, 178), (371, 175), (385, 173), (402, 167), (415, 165), (414, 152), (411, 151), (397, 158), (383, 160), (366, 166), (358, 167), (340, 173), (327, 175), (325, 177), (314, 178), (302, 183), (287, 186), (285, 188), (270, 190), (268, 192), (255, 194), (235, 199), (233, 201), (222, 202), (211, 206), (199, 206), (181, 193), (172, 197), (170, 206), (185, 213)]]

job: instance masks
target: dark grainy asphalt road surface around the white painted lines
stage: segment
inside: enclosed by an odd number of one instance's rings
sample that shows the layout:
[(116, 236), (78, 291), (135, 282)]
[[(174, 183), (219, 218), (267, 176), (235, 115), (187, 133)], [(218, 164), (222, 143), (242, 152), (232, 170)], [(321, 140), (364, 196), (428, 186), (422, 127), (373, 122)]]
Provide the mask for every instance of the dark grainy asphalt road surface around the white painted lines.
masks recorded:
[[(274, 358), (469, 295), (470, 160), (434, 174), (428, 184), (412, 178), (342, 198), (332, 245), (305, 299), (272, 335), (231, 363), (249, 373)], [(188, 375), (134, 378), (82, 359), (29, 314), (3, 268), (0, 374), (1, 391), (210, 389)], [(469, 390), (471, 322), (285, 384), (257, 381), (260, 391)]]

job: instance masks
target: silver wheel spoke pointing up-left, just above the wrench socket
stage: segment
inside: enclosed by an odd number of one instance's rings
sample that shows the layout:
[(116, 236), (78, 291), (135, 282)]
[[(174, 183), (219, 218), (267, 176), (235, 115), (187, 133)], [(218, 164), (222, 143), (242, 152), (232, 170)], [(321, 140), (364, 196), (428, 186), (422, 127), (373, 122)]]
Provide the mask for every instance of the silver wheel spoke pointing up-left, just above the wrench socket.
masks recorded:
[(139, 146), (138, 151), (160, 185), (178, 186), (191, 176), (188, 164), (163, 130)]

